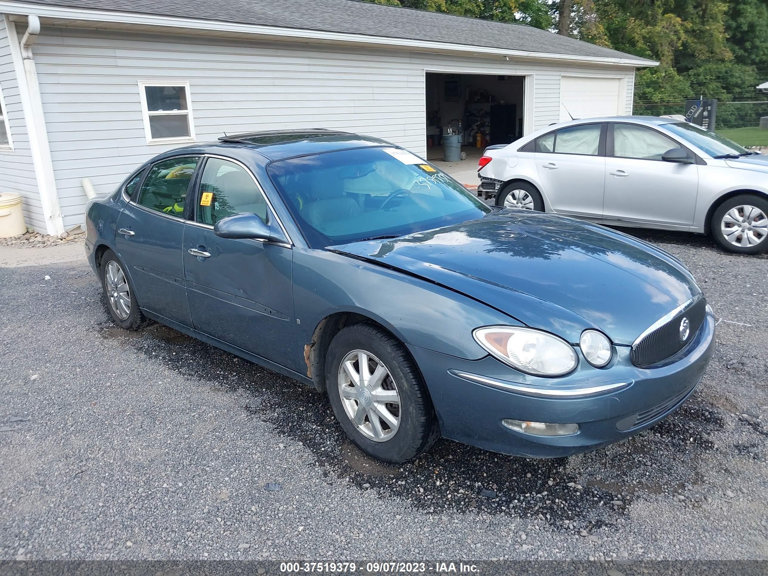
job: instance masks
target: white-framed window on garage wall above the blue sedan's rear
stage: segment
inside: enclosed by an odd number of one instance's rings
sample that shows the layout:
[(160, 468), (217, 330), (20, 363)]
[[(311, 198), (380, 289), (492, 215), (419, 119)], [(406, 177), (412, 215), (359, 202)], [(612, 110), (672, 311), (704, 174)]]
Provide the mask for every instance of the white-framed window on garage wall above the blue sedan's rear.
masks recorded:
[(187, 82), (139, 82), (147, 144), (194, 142), (190, 87)]

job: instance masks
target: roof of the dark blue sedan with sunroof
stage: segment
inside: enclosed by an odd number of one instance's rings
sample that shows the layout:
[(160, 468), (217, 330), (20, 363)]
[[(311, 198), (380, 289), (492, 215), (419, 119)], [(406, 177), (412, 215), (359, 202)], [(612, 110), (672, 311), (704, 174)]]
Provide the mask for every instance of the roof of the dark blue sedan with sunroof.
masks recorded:
[(304, 130), (280, 130), (227, 134), (217, 142), (204, 144), (206, 147), (247, 147), (258, 151), (270, 160), (282, 160), (307, 154), (318, 154), (350, 148), (392, 146), (381, 138), (361, 136), (350, 132), (307, 128)]

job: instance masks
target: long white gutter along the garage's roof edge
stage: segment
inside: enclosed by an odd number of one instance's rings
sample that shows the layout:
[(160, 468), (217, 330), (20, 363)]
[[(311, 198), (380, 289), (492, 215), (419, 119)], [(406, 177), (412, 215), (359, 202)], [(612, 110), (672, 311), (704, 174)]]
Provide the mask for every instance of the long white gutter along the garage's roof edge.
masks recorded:
[(530, 58), (548, 61), (590, 62), (594, 64), (631, 67), (652, 67), (659, 65), (659, 62), (637, 60), (631, 57), (607, 58), (601, 56), (548, 54), (546, 52), (508, 50), (504, 48), (491, 48), (487, 46), (453, 44), (450, 42), (411, 40), (408, 38), (392, 38), (386, 36), (371, 36), (362, 34), (347, 34), (343, 32), (307, 30), (304, 28), (280, 28), (277, 26), (238, 24), (237, 22), (221, 22), (217, 20), (200, 20), (195, 18), (175, 18), (170, 16), (147, 15), (134, 12), (62, 8), (59, 6), (26, 4), (24, 2), (12, 2), (8, 0), (0, 0), (0, 13), (15, 15), (33, 14), (40, 18), (55, 18), (56, 20), (68, 19), (84, 22), (109, 22), (111, 24), (124, 24), (134, 26), (162, 26), (166, 28), (184, 28), (198, 31), (230, 32), (237, 34), (250, 34), (254, 36), (269, 36), (271, 38), (285, 38), (286, 40), (294, 41), (316, 40), (339, 44), (378, 45), (393, 49), (406, 48), (415, 51), (452, 51), (469, 53), (471, 55), (506, 56), (512, 58)]

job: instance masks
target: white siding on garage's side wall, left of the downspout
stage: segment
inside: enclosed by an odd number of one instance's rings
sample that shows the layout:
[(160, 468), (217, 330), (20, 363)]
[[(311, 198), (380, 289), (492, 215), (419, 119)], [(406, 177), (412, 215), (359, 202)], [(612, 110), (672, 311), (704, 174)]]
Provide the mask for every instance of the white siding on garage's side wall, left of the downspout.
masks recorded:
[(27, 226), (45, 232), (40, 194), (35, 178), (35, 166), (29, 149), (22, 101), (18, 95), (18, 81), (8, 44), (8, 31), (0, 15), (0, 89), (8, 114), (13, 150), (0, 150), (0, 192), (18, 192), (22, 195), (22, 210)]

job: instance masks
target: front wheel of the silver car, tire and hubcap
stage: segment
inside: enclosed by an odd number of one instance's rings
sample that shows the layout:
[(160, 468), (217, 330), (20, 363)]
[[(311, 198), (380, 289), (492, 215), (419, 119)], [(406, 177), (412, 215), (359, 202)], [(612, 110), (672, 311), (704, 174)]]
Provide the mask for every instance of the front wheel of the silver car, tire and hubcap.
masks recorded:
[(768, 250), (768, 199), (756, 194), (728, 198), (712, 214), (710, 231), (724, 250), (762, 254)]

